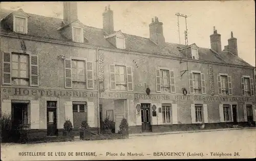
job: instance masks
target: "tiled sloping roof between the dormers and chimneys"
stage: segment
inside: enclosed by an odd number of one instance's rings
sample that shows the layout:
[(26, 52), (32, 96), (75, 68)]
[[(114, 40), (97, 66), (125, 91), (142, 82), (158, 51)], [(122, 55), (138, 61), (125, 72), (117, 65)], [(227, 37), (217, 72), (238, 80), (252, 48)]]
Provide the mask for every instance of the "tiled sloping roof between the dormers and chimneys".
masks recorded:
[[(1, 9), (0, 19), (5, 18), (10, 13), (14, 11)], [(69, 41), (63, 37), (57, 29), (61, 26), (63, 22), (62, 19), (45, 17), (35, 14), (27, 13), (30, 17), (28, 18), (28, 34), (36, 35), (40, 37), (45, 37), (48, 39), (57, 39), (63, 41)], [(3, 30), (3, 29), (1, 29)], [(8, 32), (5, 30), (5, 32)], [(102, 46), (102, 47), (115, 47), (108, 40), (104, 39), (105, 33), (102, 29), (93, 28), (91, 26), (84, 25), (84, 37), (88, 40), (89, 44)], [(155, 53), (161, 55), (171, 55), (176, 57), (184, 57), (184, 54), (179, 51), (180, 48), (185, 47), (185, 45), (168, 43), (162, 47), (156, 45), (148, 38), (143, 38), (139, 36), (124, 34), (125, 36), (125, 50), (140, 51)], [(243, 61), (241, 58), (232, 55), (232, 53), (223, 51), (221, 53), (215, 53), (208, 48), (198, 48), (198, 54), (200, 60), (212, 61), (217, 63), (229, 63), (234, 65), (250, 66), (248, 63)]]

